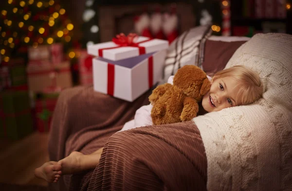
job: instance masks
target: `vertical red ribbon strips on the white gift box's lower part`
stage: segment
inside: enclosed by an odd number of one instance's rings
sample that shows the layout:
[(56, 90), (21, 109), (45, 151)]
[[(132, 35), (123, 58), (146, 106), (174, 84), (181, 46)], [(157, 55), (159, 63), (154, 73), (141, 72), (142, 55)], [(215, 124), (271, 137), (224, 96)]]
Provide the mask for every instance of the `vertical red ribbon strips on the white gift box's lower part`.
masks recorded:
[[(114, 93), (114, 65), (108, 63), (108, 94)], [(148, 87), (153, 86), (153, 56), (148, 58)]]

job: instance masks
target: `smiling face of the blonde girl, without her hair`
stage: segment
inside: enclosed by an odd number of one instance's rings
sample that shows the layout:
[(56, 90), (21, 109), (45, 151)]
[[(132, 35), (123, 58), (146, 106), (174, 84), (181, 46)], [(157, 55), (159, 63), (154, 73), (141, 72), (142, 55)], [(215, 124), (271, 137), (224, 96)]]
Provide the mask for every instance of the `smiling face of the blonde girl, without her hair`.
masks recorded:
[(214, 80), (210, 90), (203, 96), (203, 108), (207, 112), (212, 112), (240, 104), (235, 102), (240, 87), (237, 85), (238, 81), (232, 77)]

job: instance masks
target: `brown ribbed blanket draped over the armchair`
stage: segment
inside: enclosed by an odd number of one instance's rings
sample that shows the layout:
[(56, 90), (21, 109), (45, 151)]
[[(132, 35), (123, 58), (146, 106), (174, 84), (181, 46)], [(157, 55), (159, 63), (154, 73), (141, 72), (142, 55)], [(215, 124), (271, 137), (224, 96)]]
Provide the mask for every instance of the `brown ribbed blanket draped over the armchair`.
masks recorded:
[(64, 91), (51, 126), (51, 160), (73, 151), (90, 154), (105, 148), (95, 169), (64, 175), (50, 189), (205, 191), (207, 161), (195, 124), (148, 126), (114, 134), (140, 106), (148, 104), (150, 92), (129, 103), (93, 92), (92, 87)]

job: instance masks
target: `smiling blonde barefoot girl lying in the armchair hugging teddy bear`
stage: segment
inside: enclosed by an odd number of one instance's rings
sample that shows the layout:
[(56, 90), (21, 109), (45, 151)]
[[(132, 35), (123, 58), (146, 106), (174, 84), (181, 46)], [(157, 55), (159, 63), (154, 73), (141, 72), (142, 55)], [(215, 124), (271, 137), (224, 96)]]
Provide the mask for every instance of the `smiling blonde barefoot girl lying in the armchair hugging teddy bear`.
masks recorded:
[[(172, 84), (171, 76), (168, 83)], [(237, 105), (251, 104), (262, 94), (259, 75), (244, 66), (235, 66), (217, 72), (211, 81), (210, 90), (203, 96), (198, 115), (220, 111)], [(142, 106), (136, 111), (134, 120), (127, 122), (121, 131), (135, 127), (152, 125), (151, 104)], [(61, 174), (73, 174), (94, 169), (99, 162), (103, 148), (90, 155), (72, 152), (66, 158), (44, 163), (35, 170), (38, 178), (48, 182), (57, 182)]]

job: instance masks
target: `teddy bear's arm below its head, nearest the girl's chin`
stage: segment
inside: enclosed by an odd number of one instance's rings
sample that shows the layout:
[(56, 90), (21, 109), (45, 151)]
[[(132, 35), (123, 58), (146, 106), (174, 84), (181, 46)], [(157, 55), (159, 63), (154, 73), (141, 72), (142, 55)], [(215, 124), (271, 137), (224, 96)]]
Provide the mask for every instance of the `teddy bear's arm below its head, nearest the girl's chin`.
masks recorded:
[(181, 114), (181, 121), (186, 122), (190, 121), (194, 117), (197, 117), (199, 111), (198, 102), (191, 97), (185, 97), (183, 100), (183, 111)]

